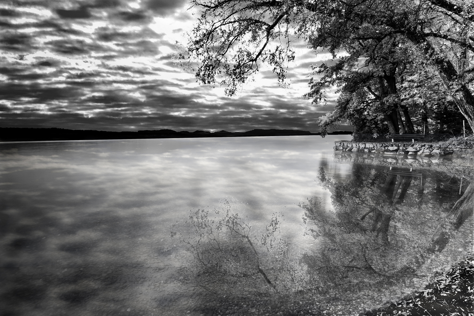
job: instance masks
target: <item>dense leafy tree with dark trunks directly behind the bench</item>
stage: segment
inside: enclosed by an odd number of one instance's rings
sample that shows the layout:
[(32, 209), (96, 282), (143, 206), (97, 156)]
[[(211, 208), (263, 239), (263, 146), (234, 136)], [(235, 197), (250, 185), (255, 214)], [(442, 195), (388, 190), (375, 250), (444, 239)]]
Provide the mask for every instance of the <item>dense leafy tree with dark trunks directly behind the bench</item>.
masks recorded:
[(324, 99), (327, 86), (342, 86), (334, 111), (319, 119), (322, 135), (343, 119), (356, 133), (383, 134), (382, 123), (392, 134), (414, 133), (409, 108), (401, 98), (401, 83), (413, 68), (406, 46), (398, 35), (382, 41), (358, 40), (346, 48), (349, 56), (314, 67), (320, 78), (311, 78), (310, 92), (305, 95), (313, 103)]

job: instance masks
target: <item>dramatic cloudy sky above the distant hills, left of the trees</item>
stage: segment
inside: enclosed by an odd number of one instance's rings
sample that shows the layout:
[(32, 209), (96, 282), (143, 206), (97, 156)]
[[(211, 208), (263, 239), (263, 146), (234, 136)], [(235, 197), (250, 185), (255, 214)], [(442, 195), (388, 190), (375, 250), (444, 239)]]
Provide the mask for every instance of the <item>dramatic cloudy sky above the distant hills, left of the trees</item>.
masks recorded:
[(193, 21), (186, 0), (0, 2), (0, 127), (318, 131), (331, 107), (302, 95), (327, 54), (301, 43), (289, 88), (263, 70), (228, 98), (173, 63)]

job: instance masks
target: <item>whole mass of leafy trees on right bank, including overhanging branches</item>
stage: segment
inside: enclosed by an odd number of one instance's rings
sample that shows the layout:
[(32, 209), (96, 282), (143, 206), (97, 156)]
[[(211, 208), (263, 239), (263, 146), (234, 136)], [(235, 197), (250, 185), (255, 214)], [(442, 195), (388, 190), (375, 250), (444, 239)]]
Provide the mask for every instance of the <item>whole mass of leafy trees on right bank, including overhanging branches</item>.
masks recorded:
[[(201, 15), (182, 62), (233, 95), (262, 63), (278, 81), (301, 38), (332, 59), (313, 66), (313, 104), (340, 92), (321, 133), (347, 120), (356, 133), (428, 132), (456, 119), (474, 131), (472, 0), (192, 0)], [(437, 127), (438, 129), (440, 127)]]

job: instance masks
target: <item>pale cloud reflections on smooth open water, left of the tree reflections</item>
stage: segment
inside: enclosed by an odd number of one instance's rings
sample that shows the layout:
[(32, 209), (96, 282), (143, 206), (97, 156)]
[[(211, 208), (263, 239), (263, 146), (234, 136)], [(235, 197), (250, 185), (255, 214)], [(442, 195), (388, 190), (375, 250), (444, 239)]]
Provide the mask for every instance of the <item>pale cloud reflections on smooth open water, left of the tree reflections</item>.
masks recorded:
[(314, 180), (334, 137), (0, 144), (0, 263), (19, 267), (2, 274), (19, 293), (2, 294), (5, 311), (157, 308), (177, 263), (162, 252), (166, 228), (228, 196), (248, 204), (257, 226), (283, 211), (285, 235), (302, 241), (297, 204), (323, 194)]

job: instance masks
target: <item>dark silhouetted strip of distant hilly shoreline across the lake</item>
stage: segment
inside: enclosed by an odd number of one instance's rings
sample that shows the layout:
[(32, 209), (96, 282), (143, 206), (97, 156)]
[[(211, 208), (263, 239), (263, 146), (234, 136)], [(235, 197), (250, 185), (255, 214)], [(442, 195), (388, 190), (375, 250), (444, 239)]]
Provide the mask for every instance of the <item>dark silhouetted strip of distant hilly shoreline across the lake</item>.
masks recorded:
[[(74, 130), (64, 128), (0, 127), (0, 142), (103, 140), (103, 139), (147, 139), (147, 138), (203, 138), (203, 137), (255, 137), (255, 136), (302, 136), (321, 135), (292, 129), (253, 129), (247, 132), (180, 131), (172, 129), (143, 130), (137, 132), (109, 132), (96, 130)], [(348, 131), (336, 131), (328, 135), (352, 135)]]

